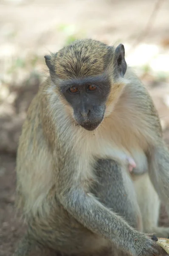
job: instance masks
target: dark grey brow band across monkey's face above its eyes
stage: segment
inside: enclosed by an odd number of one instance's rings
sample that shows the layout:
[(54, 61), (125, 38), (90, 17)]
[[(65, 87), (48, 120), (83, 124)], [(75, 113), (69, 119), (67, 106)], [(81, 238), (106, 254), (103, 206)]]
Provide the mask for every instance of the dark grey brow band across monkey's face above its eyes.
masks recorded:
[(100, 76), (88, 76), (85, 78), (76, 78), (76, 79), (68, 79), (68, 80), (61, 80), (59, 86), (62, 88), (68, 88), (73, 85), (83, 85), (83, 84), (96, 84), (96, 85), (103, 85), (107, 83), (108, 78), (105, 75)]

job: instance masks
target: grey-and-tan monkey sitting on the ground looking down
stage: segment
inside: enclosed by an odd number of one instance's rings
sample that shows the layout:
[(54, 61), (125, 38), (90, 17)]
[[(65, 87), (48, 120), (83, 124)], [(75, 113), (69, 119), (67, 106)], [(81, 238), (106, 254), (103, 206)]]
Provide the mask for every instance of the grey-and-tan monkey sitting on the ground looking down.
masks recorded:
[(45, 62), (17, 150), (28, 228), (14, 256), (163, 255), (156, 236), (169, 234), (158, 227), (160, 201), (169, 212), (169, 151), (124, 45), (76, 40)]

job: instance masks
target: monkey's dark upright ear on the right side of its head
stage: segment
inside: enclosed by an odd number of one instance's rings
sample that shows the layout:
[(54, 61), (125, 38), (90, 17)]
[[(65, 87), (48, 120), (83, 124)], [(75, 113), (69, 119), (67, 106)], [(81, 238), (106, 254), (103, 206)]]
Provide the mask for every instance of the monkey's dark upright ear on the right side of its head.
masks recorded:
[(127, 63), (125, 61), (125, 50), (124, 45), (119, 44), (118, 47), (115, 49), (115, 56), (118, 66), (118, 71), (120, 73), (120, 76), (124, 76), (127, 70)]

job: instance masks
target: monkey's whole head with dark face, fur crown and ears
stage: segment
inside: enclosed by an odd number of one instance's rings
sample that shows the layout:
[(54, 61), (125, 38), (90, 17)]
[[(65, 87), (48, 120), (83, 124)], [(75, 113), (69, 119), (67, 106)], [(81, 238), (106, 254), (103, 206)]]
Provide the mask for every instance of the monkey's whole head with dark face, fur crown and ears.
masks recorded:
[(96, 129), (113, 110), (127, 70), (124, 46), (85, 39), (45, 56), (52, 85), (71, 108), (76, 123)]

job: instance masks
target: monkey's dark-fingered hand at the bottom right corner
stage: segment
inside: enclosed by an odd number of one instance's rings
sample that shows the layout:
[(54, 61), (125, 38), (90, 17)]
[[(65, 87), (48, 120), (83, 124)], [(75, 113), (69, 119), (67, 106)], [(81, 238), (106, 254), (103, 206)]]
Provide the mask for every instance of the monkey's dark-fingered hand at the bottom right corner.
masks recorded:
[(142, 238), (135, 239), (134, 256), (168, 256), (163, 248), (156, 243), (158, 241), (156, 236), (142, 235)]

